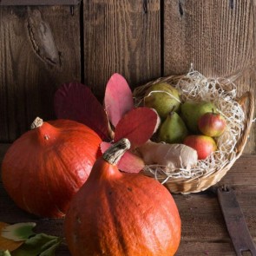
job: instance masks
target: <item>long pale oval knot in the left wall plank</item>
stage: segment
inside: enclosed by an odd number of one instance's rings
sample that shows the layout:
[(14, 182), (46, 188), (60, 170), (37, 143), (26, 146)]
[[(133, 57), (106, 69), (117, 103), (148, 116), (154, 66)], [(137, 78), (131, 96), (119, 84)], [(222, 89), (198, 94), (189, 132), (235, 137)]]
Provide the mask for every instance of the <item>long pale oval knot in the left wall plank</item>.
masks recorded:
[(27, 29), (36, 56), (51, 67), (61, 68), (61, 55), (56, 47), (54, 36), (49, 23), (43, 21), (39, 10), (28, 8)]

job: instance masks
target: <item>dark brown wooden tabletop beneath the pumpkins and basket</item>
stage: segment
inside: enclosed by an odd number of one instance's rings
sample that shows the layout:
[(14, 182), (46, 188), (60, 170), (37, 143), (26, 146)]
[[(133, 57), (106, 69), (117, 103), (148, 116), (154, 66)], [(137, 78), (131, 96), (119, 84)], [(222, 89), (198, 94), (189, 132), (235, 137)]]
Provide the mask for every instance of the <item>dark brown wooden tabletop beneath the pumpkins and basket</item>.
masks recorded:
[[(8, 144), (0, 144), (0, 161)], [(217, 185), (233, 187), (244, 213), (246, 224), (256, 243), (256, 154), (245, 154), (235, 162)], [(182, 221), (181, 245), (176, 255), (236, 255), (226, 230), (215, 194), (174, 194)], [(62, 236), (62, 220), (39, 219), (16, 207), (0, 182), (0, 221), (7, 223), (36, 222), (36, 232)], [(56, 251), (57, 256), (70, 255), (67, 246)], [(244, 255), (251, 255), (244, 254)]]

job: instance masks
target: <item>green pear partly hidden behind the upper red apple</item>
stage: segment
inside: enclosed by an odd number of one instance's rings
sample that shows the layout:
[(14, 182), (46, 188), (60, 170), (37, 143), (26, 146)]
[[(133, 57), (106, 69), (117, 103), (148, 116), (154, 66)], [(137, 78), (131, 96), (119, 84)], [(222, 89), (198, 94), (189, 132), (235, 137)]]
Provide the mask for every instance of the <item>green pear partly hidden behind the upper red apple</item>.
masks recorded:
[(208, 112), (216, 112), (213, 102), (184, 102), (181, 104), (181, 118), (185, 121), (187, 128), (195, 134), (200, 133), (198, 121), (200, 117)]

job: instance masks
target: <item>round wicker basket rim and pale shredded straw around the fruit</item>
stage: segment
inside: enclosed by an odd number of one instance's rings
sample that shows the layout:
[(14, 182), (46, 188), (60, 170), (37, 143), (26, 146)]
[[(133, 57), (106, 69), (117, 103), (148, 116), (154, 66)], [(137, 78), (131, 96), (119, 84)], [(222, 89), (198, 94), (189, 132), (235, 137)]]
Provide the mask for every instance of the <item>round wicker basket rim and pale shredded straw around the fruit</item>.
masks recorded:
[(253, 95), (246, 92), (240, 98), (233, 82), (207, 78), (191, 70), (187, 75), (161, 77), (134, 91), (136, 105), (142, 105), (146, 90), (154, 83), (167, 82), (181, 93), (181, 102), (210, 101), (226, 118), (226, 131), (216, 139), (218, 150), (191, 169), (172, 169), (157, 164), (146, 165), (143, 174), (154, 177), (172, 193), (196, 193), (216, 184), (233, 166), (245, 148), (253, 121)]

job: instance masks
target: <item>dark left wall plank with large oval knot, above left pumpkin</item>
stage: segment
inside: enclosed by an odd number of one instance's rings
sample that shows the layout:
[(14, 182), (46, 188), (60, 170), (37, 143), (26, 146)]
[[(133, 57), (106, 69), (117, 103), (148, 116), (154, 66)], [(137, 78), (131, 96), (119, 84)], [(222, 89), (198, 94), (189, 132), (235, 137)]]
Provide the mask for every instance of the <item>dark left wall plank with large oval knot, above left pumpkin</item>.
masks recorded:
[(81, 79), (79, 26), (78, 6), (0, 8), (0, 141), (53, 118), (57, 87)]

